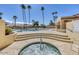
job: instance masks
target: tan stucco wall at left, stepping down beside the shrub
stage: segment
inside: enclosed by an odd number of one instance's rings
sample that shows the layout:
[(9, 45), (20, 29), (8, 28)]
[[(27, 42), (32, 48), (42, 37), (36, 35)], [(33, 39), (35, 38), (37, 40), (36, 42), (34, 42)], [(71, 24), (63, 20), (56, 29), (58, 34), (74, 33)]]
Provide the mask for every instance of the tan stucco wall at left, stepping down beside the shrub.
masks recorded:
[(5, 35), (5, 22), (3, 20), (0, 20), (0, 49), (13, 43), (14, 40), (15, 40), (14, 34)]

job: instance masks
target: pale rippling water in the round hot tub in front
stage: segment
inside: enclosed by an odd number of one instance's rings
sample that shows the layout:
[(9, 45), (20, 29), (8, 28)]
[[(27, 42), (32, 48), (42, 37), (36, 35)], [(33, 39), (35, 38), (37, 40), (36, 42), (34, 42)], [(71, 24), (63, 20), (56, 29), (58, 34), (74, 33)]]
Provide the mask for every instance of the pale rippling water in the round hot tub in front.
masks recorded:
[(60, 51), (48, 43), (32, 43), (25, 46), (19, 53), (20, 55), (60, 55)]

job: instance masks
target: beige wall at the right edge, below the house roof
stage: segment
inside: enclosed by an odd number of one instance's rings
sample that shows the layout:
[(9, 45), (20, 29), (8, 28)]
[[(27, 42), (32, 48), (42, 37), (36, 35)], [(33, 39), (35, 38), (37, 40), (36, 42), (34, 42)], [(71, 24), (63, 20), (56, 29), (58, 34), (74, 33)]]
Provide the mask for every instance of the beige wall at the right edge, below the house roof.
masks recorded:
[[(75, 25), (75, 22), (77, 22), (77, 25)], [(79, 21), (72, 21), (72, 22), (68, 22), (67, 26), (66, 26), (66, 32), (68, 34), (68, 36), (71, 38), (71, 40), (73, 41), (72, 44), (72, 51), (74, 51), (75, 53), (79, 54), (79, 32), (77, 32), (77, 28), (75, 29), (76, 26), (79, 25), (78, 23)]]

